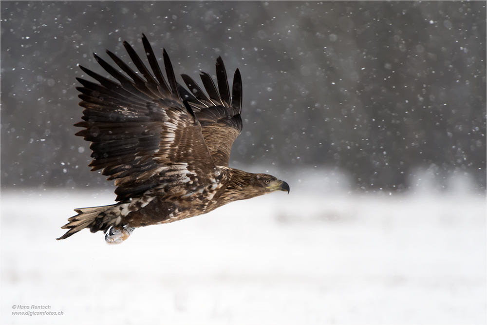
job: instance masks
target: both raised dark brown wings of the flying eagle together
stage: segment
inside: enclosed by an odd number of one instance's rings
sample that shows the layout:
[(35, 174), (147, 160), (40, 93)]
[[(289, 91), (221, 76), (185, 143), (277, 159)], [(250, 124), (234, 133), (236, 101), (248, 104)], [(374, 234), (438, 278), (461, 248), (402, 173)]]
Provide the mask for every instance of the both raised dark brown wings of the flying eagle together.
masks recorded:
[(92, 142), (90, 166), (92, 170), (102, 169), (109, 180), (115, 180), (117, 201), (194, 175), (204, 182), (201, 178), (205, 176), (200, 175), (208, 174), (215, 165), (228, 166), (232, 143), (242, 130), (242, 81), (238, 70), (233, 100), (221, 58), (217, 60), (220, 93), (208, 74), (202, 75), (208, 96), (193, 79), (183, 75), (188, 92), (177, 83), (167, 52), (163, 51), (163, 59), (168, 81), (149, 41), (145, 36), (142, 41), (152, 73), (124, 42), (140, 75), (107, 51), (126, 75), (94, 57), (119, 83), (84, 67), (81, 69), (99, 84), (78, 78), (82, 85), (77, 87), (82, 100), (79, 105), (85, 110), (83, 121), (75, 126), (85, 129), (76, 135)]

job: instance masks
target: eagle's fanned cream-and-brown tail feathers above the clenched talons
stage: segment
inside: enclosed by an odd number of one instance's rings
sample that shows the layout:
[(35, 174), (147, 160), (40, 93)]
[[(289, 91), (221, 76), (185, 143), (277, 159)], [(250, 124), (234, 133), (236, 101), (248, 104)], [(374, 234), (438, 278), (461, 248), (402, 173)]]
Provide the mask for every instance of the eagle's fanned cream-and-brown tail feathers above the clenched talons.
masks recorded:
[(76, 232), (89, 228), (91, 232), (103, 230), (106, 232), (110, 227), (120, 222), (119, 204), (112, 204), (102, 207), (79, 208), (75, 209), (75, 216), (68, 219), (68, 223), (61, 229), (69, 229), (64, 235), (56, 240), (66, 239)]

